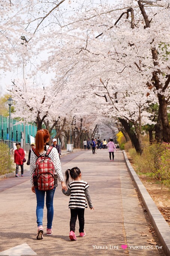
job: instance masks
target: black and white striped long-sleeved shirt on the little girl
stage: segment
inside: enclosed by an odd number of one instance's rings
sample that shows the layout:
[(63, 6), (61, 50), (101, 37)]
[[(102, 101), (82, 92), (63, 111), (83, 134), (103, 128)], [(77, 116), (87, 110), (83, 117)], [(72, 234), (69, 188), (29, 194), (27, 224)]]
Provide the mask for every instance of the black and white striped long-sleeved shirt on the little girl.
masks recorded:
[[(83, 180), (74, 180), (68, 184), (68, 189), (62, 190), (63, 194), (69, 196), (69, 208), (87, 208), (87, 202), (90, 209), (93, 208), (90, 198), (89, 184)], [(87, 202), (86, 202), (87, 199)]]

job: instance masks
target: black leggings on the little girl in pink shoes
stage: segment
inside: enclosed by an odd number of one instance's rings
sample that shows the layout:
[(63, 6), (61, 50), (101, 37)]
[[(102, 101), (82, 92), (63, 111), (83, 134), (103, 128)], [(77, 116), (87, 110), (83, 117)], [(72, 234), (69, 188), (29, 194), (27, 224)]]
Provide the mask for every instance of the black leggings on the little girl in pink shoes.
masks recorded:
[(75, 232), (75, 223), (79, 221), (79, 233), (84, 232), (84, 209), (77, 208), (77, 209), (70, 209), (71, 211), (71, 218), (70, 218), (70, 231)]

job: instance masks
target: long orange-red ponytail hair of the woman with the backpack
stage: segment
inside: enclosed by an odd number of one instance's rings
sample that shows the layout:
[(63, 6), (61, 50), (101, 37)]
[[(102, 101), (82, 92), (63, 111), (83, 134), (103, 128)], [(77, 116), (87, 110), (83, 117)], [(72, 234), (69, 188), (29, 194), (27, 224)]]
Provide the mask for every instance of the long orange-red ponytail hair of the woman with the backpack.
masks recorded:
[(47, 142), (48, 138), (50, 139), (50, 134), (47, 129), (41, 129), (37, 132), (35, 140), (36, 140), (36, 154), (38, 152), (42, 152), (44, 150), (44, 145)]

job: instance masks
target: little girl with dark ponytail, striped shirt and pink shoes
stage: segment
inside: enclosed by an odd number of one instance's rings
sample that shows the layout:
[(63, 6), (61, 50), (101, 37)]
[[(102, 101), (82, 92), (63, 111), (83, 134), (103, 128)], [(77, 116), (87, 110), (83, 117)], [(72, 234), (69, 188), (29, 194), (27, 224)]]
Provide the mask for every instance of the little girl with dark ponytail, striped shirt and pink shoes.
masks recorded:
[[(77, 237), (75, 235), (75, 223), (77, 220), (77, 216), (79, 221), (79, 233), (81, 237), (84, 237), (86, 235), (86, 232), (84, 231), (84, 209), (87, 208), (87, 202), (91, 210), (94, 210), (94, 208), (90, 198), (89, 184), (86, 181), (81, 180), (80, 169), (77, 167), (67, 169), (65, 175), (66, 185), (68, 189), (67, 191), (62, 189), (62, 192), (67, 196), (70, 195), (69, 208), (71, 211), (71, 218), (69, 238), (70, 240), (74, 241), (77, 240)], [(69, 175), (73, 180), (70, 183)]]

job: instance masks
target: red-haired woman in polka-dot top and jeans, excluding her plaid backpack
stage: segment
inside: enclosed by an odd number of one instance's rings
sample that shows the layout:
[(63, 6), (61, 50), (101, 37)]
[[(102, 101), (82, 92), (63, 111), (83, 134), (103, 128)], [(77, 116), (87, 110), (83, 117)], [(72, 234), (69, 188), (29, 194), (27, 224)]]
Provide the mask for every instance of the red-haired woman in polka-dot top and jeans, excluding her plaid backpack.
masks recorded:
[[(33, 174), (35, 174), (35, 167), (36, 167), (36, 160), (38, 158), (38, 155), (45, 155), (47, 153), (47, 150), (49, 148), (48, 143), (50, 139), (50, 134), (48, 130), (42, 129), (39, 130), (36, 134), (36, 148), (35, 151), (31, 152), (31, 158), (30, 158), (30, 183), (31, 183), (31, 190), (33, 193), (36, 194), (36, 200), (37, 200), (37, 206), (36, 206), (36, 218), (37, 218), (37, 225), (38, 225), (38, 233), (37, 233), (37, 239), (43, 239), (43, 211), (44, 211), (44, 198), (45, 198), (45, 192), (46, 192), (46, 207), (47, 207), (47, 235), (52, 235), (53, 230), (52, 222), (53, 222), (53, 215), (54, 215), (54, 208), (53, 208), (53, 198), (54, 198), (54, 192), (56, 187), (50, 190), (39, 190), (34, 186), (33, 183)], [(61, 163), (59, 154), (56, 150), (56, 148), (52, 148), (50, 151), (50, 154), (48, 155), (51, 159), (51, 161), (54, 164), (55, 171), (57, 172), (58, 180), (61, 182), (62, 189), (66, 189), (66, 185), (64, 182), (64, 177), (62, 174), (61, 169)], [(46, 166), (48, 168), (48, 166)]]

